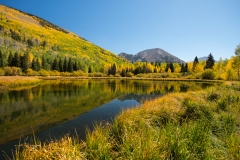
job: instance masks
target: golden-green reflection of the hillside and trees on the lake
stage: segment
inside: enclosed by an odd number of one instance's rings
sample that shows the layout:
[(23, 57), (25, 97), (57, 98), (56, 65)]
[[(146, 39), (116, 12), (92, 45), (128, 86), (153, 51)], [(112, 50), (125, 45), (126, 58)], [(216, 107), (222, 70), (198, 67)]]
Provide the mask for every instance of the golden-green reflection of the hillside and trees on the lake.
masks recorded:
[(32, 130), (37, 133), (71, 120), (116, 98), (121, 102), (135, 100), (140, 103), (169, 92), (199, 90), (207, 85), (211, 84), (114, 79), (46, 80), (31, 89), (0, 93), (0, 144), (31, 134)]

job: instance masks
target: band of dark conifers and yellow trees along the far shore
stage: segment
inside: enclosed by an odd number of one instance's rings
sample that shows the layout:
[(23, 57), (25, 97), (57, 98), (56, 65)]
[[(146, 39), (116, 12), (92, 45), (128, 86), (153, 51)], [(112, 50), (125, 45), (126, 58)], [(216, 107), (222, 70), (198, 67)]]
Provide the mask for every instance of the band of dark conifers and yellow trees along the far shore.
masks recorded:
[[(98, 73), (96, 76), (119, 77), (166, 73), (169, 75), (181, 74), (180, 76), (195, 79), (234, 80), (240, 79), (240, 45), (235, 50), (235, 56), (225, 60), (220, 58), (217, 62), (210, 53), (207, 60), (204, 61), (199, 61), (196, 56), (193, 62), (181, 64), (172, 62), (133, 62), (122, 65), (117, 65), (116, 63), (105, 64), (102, 67), (100, 66), (100, 68), (99, 65), (94, 66), (94, 64), (87, 64), (84, 60), (73, 59), (67, 56), (54, 58), (47, 54), (34, 56), (29, 54), (28, 51), (21, 54), (10, 52), (3, 55), (0, 50), (0, 67), (16, 67), (25, 74), (31, 70), (36, 72), (43, 70), (47, 72), (54, 71), (55, 73), (67, 72), (69, 74), (77, 71), (81, 73), (80, 75)], [(9, 68), (7, 69), (9, 70)], [(20, 71), (17, 73), (20, 73)]]

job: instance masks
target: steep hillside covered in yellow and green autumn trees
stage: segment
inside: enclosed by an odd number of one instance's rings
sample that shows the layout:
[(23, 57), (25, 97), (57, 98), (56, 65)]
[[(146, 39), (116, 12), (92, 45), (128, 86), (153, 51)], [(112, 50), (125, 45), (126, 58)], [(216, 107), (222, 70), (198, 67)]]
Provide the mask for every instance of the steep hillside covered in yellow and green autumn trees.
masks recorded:
[[(21, 63), (26, 61), (28, 64), (25, 64), (25, 69), (39, 64), (40, 68), (46, 70), (65, 71), (73, 68), (84, 72), (88, 72), (89, 69), (102, 72), (104, 65), (129, 63), (114, 53), (42, 18), (4, 5), (0, 5), (0, 50), (1, 66), (21, 67), (24, 65)], [(10, 61), (11, 56), (17, 59), (10, 62), (9, 56)], [(23, 60), (24, 56), (27, 59)], [(68, 69), (66, 66), (62, 67), (65, 59), (70, 63)], [(38, 68), (38, 66), (34, 67)]]

